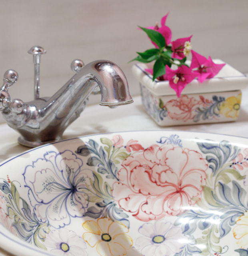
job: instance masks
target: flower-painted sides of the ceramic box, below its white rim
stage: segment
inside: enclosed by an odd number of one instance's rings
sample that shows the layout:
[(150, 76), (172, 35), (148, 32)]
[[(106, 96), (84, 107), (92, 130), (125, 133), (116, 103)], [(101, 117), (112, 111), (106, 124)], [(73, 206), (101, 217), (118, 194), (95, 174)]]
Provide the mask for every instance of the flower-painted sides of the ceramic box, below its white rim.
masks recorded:
[(155, 96), (140, 85), (146, 112), (161, 126), (233, 121), (238, 118), (241, 92)]

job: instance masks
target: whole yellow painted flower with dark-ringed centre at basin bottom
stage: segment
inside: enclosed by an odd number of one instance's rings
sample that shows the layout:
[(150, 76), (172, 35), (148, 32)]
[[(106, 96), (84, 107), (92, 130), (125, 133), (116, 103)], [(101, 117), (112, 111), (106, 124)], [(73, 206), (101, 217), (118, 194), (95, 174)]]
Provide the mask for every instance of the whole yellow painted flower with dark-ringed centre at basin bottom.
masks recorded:
[(97, 221), (87, 220), (83, 228), (88, 231), (83, 234), (83, 239), (91, 247), (96, 246), (101, 256), (123, 256), (127, 254), (133, 242), (128, 236), (128, 228), (118, 221), (109, 218), (99, 218)]

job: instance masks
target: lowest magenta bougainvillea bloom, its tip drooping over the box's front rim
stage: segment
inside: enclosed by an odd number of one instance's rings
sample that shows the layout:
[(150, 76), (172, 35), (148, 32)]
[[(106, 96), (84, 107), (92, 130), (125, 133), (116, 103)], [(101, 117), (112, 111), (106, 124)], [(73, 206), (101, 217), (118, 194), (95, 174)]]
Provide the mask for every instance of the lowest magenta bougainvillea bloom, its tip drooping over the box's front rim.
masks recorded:
[(172, 70), (166, 65), (166, 75), (169, 80), (170, 87), (176, 92), (178, 98), (186, 84), (190, 83), (197, 74), (185, 65), (179, 66), (178, 69)]

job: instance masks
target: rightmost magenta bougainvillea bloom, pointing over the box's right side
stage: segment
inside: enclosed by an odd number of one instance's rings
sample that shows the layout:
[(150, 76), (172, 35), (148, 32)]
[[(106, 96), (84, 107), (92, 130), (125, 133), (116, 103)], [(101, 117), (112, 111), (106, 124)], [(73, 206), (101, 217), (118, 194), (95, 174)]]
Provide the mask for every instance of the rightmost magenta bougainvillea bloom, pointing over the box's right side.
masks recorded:
[(192, 62), (190, 68), (197, 74), (199, 82), (203, 82), (206, 78), (212, 78), (216, 76), (225, 64), (215, 64), (211, 57), (208, 59), (198, 54), (195, 51), (192, 52)]

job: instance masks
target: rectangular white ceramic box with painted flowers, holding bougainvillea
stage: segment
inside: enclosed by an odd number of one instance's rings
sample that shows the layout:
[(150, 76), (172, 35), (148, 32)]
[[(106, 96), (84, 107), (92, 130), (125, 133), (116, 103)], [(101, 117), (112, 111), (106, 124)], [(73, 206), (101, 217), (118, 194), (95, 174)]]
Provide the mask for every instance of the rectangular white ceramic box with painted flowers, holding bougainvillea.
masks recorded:
[[(216, 64), (224, 63), (214, 60)], [(203, 83), (194, 79), (187, 84), (180, 98), (168, 81), (152, 81), (145, 71), (151, 64), (139, 63), (132, 73), (140, 83), (142, 103), (146, 112), (160, 126), (230, 122), (238, 118), (241, 90), (248, 77), (226, 64), (214, 77)]]

